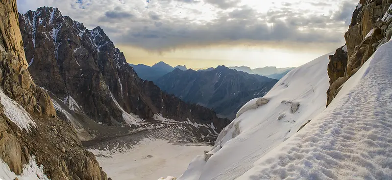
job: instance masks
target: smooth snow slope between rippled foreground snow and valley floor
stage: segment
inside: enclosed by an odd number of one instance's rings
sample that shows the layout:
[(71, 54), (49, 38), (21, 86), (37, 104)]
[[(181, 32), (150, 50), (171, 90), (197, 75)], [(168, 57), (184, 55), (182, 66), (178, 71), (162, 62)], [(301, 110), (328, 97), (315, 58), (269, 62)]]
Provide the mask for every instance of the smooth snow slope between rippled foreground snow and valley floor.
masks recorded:
[(323, 111), (329, 87), (328, 56), (295, 68), (264, 99), (246, 103), (219, 135), (209, 152), (212, 157), (207, 162), (203, 156), (196, 157), (178, 180), (236, 179)]

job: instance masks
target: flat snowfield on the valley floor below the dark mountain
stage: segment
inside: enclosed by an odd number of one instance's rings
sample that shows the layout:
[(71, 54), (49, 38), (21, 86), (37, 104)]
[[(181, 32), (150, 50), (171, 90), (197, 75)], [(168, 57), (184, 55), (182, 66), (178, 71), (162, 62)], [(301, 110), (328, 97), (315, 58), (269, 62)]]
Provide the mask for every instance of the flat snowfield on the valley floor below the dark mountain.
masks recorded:
[(165, 140), (146, 138), (129, 150), (121, 149), (115, 153), (89, 151), (98, 155), (99, 164), (113, 180), (158, 180), (168, 175), (180, 176), (193, 157), (210, 148), (206, 145), (174, 145)]

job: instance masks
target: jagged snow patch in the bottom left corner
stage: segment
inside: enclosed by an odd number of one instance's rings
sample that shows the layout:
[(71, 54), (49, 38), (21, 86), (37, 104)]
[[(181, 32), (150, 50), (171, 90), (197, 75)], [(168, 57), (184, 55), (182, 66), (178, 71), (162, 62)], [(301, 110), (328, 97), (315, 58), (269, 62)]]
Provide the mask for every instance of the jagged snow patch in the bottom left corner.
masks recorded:
[(49, 180), (44, 174), (44, 167), (38, 166), (35, 157), (30, 157), (29, 163), (23, 166), (22, 174), (17, 176), (9, 169), (9, 166), (0, 159), (0, 180)]

